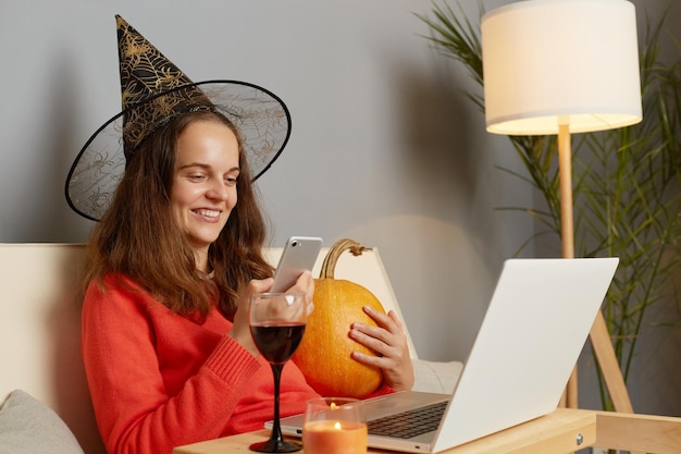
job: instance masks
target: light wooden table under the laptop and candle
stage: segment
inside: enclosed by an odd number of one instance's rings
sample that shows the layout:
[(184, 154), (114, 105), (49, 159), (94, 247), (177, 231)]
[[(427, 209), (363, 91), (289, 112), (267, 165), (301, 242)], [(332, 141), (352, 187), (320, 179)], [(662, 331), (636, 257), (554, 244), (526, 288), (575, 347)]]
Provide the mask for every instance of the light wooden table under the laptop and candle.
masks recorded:
[[(251, 453), (268, 430), (173, 450), (173, 454)], [(681, 453), (681, 418), (558, 408), (529, 422), (444, 451), (446, 454), (568, 454), (587, 446), (657, 454)], [(299, 451), (304, 454), (305, 451)], [(369, 453), (387, 451), (369, 450)]]

